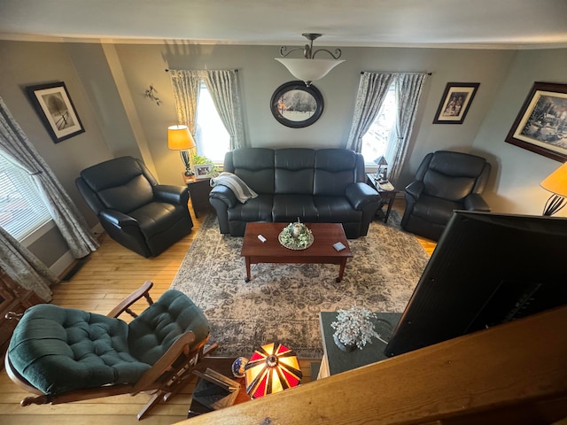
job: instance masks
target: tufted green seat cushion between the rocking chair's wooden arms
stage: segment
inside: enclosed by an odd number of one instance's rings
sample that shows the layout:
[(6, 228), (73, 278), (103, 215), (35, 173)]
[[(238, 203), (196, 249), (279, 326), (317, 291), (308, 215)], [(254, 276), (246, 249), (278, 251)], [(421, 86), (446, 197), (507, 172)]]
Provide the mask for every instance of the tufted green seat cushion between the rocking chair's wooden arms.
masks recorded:
[(129, 352), (138, 360), (153, 365), (179, 336), (188, 331), (195, 334), (193, 345), (205, 341), (209, 335), (205, 314), (183, 292), (167, 290), (128, 324)]

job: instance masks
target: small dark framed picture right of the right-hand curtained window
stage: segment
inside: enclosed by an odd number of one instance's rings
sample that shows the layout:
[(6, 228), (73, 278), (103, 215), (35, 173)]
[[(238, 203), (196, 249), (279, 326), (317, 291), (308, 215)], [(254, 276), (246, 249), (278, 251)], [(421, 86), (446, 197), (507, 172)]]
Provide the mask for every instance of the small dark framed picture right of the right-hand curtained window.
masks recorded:
[(462, 124), (479, 82), (447, 82), (433, 124)]

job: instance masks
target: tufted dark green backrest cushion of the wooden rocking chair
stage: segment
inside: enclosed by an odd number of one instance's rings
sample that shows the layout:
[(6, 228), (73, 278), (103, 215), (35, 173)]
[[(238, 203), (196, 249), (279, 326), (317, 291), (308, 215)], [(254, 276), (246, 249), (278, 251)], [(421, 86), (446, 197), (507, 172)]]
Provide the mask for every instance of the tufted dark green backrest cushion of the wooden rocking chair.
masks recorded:
[(8, 356), (19, 375), (45, 394), (136, 383), (151, 367), (130, 355), (124, 321), (47, 304), (27, 309)]

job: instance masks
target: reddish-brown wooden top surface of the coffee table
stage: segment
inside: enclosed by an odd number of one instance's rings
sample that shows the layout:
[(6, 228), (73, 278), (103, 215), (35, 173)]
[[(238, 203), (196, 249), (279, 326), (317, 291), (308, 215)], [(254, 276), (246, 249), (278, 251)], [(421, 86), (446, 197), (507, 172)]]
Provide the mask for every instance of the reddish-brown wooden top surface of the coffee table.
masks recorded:
[[(307, 250), (290, 250), (285, 248), (277, 239), (288, 223), (252, 222), (246, 224), (245, 237), (240, 255), (243, 257), (353, 257), (345, 230), (340, 223), (305, 223), (313, 233), (314, 242)], [(266, 242), (261, 242), (258, 235), (264, 236)], [(337, 251), (333, 243), (341, 242), (346, 248)]]

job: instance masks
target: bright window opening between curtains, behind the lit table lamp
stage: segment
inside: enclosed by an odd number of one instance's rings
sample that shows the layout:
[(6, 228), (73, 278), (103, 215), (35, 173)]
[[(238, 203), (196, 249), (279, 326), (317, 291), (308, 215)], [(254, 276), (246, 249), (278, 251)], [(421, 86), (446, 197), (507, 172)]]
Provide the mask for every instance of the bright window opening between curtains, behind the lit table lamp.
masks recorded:
[(230, 135), (222, 124), (205, 82), (201, 82), (198, 95), (196, 124), (199, 155), (222, 164), (230, 148)]

